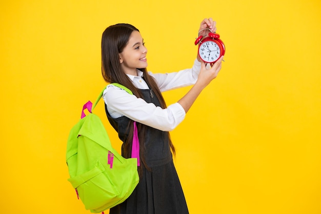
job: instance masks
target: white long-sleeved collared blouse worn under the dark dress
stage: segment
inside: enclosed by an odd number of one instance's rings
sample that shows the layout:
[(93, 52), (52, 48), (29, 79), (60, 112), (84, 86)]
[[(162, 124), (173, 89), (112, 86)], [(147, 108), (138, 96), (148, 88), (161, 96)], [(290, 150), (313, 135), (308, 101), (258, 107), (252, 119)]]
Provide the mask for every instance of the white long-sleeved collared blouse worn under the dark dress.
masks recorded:
[[(189, 69), (172, 73), (148, 73), (155, 78), (159, 90), (163, 92), (195, 84), (199, 71), (200, 62), (195, 60), (193, 67)], [(137, 76), (128, 75), (134, 86), (139, 89), (149, 89), (142, 78), (143, 72), (137, 71), (137, 74)], [(112, 118), (124, 115), (138, 123), (162, 131), (173, 130), (185, 118), (185, 110), (178, 103), (162, 109), (114, 85), (106, 87), (103, 99)]]

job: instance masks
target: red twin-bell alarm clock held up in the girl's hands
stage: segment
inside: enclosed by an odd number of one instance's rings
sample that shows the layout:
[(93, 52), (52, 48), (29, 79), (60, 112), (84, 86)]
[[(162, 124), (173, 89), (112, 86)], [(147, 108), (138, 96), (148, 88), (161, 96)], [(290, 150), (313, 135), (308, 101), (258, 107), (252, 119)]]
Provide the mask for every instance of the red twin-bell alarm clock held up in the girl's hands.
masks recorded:
[(219, 39), (219, 35), (215, 32), (209, 32), (208, 36), (202, 40), (203, 37), (203, 35), (200, 35), (195, 41), (195, 45), (199, 44), (198, 55), (205, 63), (210, 63), (213, 65), (219, 59), (219, 57), (225, 54), (225, 45), (223, 41)]

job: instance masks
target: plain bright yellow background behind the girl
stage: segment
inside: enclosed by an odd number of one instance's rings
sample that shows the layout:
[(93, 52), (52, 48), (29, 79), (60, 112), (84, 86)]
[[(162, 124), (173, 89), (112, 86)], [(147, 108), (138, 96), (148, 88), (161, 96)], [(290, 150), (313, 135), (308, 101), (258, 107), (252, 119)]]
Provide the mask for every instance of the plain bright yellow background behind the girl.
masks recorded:
[[(105, 86), (106, 27), (135, 25), (148, 70), (192, 66), (217, 21), (223, 68), (172, 131), (191, 214), (321, 213), (321, 2), (2, 1), (0, 212), (90, 213), (67, 178), (69, 130)], [(167, 104), (189, 88), (165, 92)], [(96, 108), (114, 146), (103, 102)]]

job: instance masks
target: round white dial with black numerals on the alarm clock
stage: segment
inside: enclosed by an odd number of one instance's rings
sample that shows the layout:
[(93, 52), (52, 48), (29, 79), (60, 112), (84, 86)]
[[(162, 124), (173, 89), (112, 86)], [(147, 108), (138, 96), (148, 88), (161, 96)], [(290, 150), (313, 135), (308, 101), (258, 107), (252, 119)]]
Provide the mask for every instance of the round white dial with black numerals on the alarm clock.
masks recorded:
[(203, 61), (213, 63), (220, 56), (220, 48), (214, 41), (206, 41), (199, 46), (198, 54)]

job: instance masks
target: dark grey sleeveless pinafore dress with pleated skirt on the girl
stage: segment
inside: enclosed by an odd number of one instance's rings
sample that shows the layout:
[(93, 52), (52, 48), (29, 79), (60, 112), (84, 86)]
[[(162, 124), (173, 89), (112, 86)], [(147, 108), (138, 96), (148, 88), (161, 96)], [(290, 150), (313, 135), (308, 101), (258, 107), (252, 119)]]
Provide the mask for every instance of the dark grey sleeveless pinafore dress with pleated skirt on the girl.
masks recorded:
[[(141, 89), (144, 100), (160, 106), (152, 90)], [(105, 107), (106, 108), (106, 107)], [(129, 118), (113, 119), (106, 108), (111, 125), (125, 142)], [(123, 149), (122, 149), (123, 153)], [(147, 127), (145, 136), (145, 160), (151, 170), (143, 167), (139, 183), (131, 196), (122, 204), (110, 209), (110, 214), (188, 214), (182, 186), (174, 167), (169, 146), (169, 133)]]

